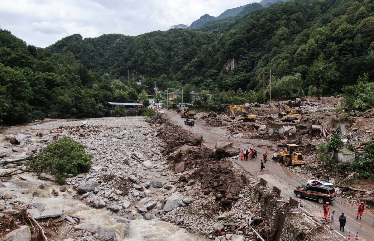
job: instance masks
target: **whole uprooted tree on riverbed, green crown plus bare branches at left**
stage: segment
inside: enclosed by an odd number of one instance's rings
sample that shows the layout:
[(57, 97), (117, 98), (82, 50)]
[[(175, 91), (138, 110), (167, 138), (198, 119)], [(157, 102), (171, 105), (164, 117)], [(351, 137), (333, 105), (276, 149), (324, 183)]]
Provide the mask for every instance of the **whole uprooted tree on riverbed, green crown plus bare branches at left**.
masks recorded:
[(1, 163), (0, 166), (17, 164), (17, 167), (11, 172), (1, 174), (0, 177), (9, 177), (30, 171), (45, 172), (55, 176), (56, 181), (63, 185), (68, 174), (76, 176), (90, 170), (92, 154), (86, 153), (85, 148), (71, 138), (62, 137), (52, 141), (34, 155)]

